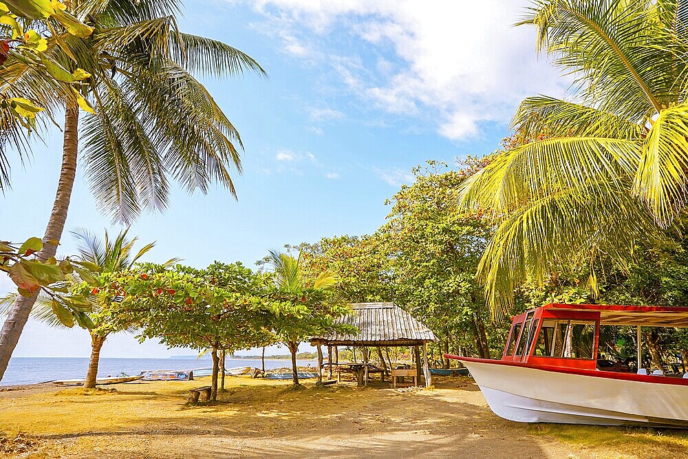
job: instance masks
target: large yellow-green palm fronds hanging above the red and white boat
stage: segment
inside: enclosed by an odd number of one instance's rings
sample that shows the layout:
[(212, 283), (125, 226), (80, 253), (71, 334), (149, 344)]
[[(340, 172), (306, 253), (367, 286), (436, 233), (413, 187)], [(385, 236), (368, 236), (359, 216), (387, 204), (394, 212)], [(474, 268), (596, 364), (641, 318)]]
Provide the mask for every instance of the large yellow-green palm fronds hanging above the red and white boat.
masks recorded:
[[(522, 281), (662, 237), (688, 203), (688, 42), (678, 0), (536, 0), (522, 24), (573, 76), (571, 100), (527, 98), (519, 146), (466, 182), (501, 219), (478, 268), (497, 314)], [(588, 284), (596, 286), (591, 268)], [(501, 307), (500, 307), (501, 306)]]

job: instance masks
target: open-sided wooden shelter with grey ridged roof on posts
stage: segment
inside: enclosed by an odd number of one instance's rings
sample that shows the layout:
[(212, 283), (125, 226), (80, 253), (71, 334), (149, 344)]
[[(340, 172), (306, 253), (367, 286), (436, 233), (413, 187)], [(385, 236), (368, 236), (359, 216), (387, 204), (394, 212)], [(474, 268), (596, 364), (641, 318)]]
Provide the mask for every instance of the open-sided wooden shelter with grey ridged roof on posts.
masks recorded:
[[(333, 347), (335, 350), (337, 346), (362, 348), (363, 370), (365, 371), (364, 383), (368, 381), (367, 347), (378, 348), (378, 352), (380, 352), (380, 348), (411, 346), (416, 358), (416, 381), (420, 383), (420, 348), (422, 348), (422, 376), (424, 376), (426, 387), (432, 384), (426, 344), (428, 341), (436, 341), (436, 337), (427, 326), (414, 319), (411, 314), (394, 303), (352, 303), (349, 306), (352, 308), (352, 314), (341, 317), (338, 319), (338, 323), (354, 325), (358, 328), (358, 333), (332, 332), (310, 339), (310, 343), (318, 348), (318, 374), (322, 374), (323, 352), (321, 346), (323, 345), (327, 346), (329, 351), (330, 368), (332, 368)], [(381, 352), (380, 357), (384, 365)]]

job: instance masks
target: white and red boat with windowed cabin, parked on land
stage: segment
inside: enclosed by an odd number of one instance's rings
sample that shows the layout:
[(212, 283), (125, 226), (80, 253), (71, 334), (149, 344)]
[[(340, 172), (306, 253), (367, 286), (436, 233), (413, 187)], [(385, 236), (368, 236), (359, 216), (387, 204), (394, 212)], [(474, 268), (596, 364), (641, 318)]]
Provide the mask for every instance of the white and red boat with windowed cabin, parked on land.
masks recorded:
[[(512, 319), (501, 360), (464, 363), (495, 414), (524, 423), (688, 428), (688, 374), (597, 367), (600, 325), (688, 327), (688, 308), (548, 304)], [(641, 348), (641, 346), (638, 346)]]

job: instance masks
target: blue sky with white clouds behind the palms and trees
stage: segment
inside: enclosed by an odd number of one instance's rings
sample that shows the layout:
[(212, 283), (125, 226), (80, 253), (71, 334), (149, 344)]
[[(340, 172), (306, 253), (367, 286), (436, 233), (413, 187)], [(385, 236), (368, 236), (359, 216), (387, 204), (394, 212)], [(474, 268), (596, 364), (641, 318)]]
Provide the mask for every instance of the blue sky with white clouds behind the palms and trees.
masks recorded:
[[(513, 27), (522, 0), (195, 0), (178, 23), (255, 58), (268, 78), (204, 79), (241, 134), (238, 200), (175, 189), (164, 213), (142, 215), (130, 235), (156, 241), (146, 261), (181, 257), (255, 261), (284, 244), (372, 233), (391, 198), (426, 160), (482, 156), (508, 135), (526, 96), (563, 96), (568, 84), (535, 53), (535, 30)], [(0, 195), (0, 238), (43, 235), (61, 160), (61, 133), (36, 142), (12, 189)], [(12, 158), (15, 159), (15, 158)], [(67, 219), (117, 233), (78, 172)], [(68, 233), (60, 253), (74, 253)], [(0, 276), (0, 294), (14, 288)], [(30, 321), (14, 356), (88, 356), (85, 330)], [(301, 345), (301, 350), (309, 346)], [(275, 353), (286, 350), (271, 349)], [(104, 357), (189, 354), (117, 334)]]

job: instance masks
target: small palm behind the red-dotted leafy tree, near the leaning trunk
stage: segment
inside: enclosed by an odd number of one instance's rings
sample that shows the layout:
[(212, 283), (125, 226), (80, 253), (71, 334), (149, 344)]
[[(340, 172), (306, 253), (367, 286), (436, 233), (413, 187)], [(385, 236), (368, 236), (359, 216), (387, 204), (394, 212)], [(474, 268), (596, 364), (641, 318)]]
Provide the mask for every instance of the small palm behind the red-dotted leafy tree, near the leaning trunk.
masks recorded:
[[(97, 267), (100, 273), (118, 273), (130, 270), (143, 255), (155, 247), (155, 242), (143, 246), (134, 254), (133, 246), (138, 241), (138, 237), (127, 239), (128, 231), (129, 228), (121, 231), (115, 239), (110, 239), (107, 231), (105, 231), (105, 239), (100, 239), (83, 228), (76, 228), (72, 231), (72, 235), (78, 244), (78, 259), (86, 262), (89, 266), (94, 266), (94, 269)], [(180, 260), (173, 258), (163, 265), (169, 266), (178, 261)], [(97, 275), (96, 273), (92, 274)], [(80, 281), (78, 277), (74, 276), (70, 279), (72, 282)], [(9, 310), (18, 298), (19, 295), (17, 294), (10, 294), (0, 299), (0, 312)], [(96, 295), (92, 295), (89, 302), (91, 303), (91, 310), (87, 313), (88, 323), (84, 325), (91, 335), (91, 359), (89, 360), (84, 387), (93, 388), (96, 387), (100, 349), (103, 348), (103, 343), (107, 337), (120, 331), (133, 332), (136, 328), (130, 323), (119, 323), (116, 318), (107, 314), (107, 310), (98, 302)], [(67, 328), (67, 325), (54, 314), (52, 298), (45, 294), (39, 295), (36, 299), (31, 313), (35, 319), (43, 323), (58, 328)]]

